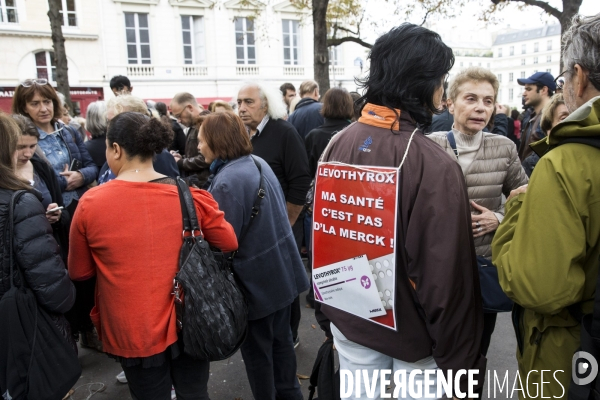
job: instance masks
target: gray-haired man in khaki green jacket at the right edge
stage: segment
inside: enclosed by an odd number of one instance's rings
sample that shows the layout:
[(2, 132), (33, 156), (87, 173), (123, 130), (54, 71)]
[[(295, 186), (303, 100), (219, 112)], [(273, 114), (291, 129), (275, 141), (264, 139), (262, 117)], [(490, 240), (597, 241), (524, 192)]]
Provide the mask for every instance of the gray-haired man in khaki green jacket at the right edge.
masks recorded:
[[(571, 115), (532, 144), (540, 161), (531, 187), (514, 190), (506, 202), (492, 261), (502, 289), (515, 301), (524, 389), (587, 400), (594, 398), (591, 358), (600, 359), (596, 346), (589, 346), (598, 341), (600, 327), (598, 315), (590, 315), (600, 313), (594, 310), (600, 296), (600, 14), (575, 17), (562, 49), (565, 70), (558, 78), (564, 76)], [(574, 357), (580, 346), (594, 357)], [(590, 363), (591, 374), (582, 374)]]

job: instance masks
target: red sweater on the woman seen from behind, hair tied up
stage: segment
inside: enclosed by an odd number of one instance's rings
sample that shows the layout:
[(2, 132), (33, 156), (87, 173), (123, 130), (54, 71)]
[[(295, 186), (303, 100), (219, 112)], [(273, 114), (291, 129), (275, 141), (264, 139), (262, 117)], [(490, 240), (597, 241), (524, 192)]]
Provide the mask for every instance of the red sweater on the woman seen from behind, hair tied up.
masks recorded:
[[(231, 225), (210, 193), (191, 189), (202, 233), (237, 249)], [(183, 231), (177, 187), (113, 180), (80, 200), (70, 233), (69, 275), (97, 276), (91, 317), (104, 351), (148, 357), (177, 341), (173, 277)]]

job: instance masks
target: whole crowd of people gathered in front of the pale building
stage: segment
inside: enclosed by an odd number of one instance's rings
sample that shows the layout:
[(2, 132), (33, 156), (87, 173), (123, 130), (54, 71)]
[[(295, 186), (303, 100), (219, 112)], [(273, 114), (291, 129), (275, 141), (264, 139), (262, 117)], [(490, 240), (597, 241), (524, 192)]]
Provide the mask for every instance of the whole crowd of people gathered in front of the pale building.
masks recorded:
[[(202, 235), (236, 252), (248, 304), (241, 353), (255, 399), (303, 398), (294, 348), (309, 287), (341, 369), (476, 370), (481, 391), (497, 314), (483, 311), (478, 258), (493, 263), (514, 301), (519, 371), (534, 375), (526, 385), (543, 384), (539, 371), (562, 370), (545, 387), (558, 398), (573, 387), (581, 318), (594, 311), (599, 48), (600, 15), (576, 17), (563, 33), (564, 72), (518, 80), (522, 110), (498, 104), (487, 69), (446, 82), (452, 49), (412, 24), (377, 39), (361, 93), (322, 94), (308, 80), (297, 96), (291, 83), (248, 82), (233, 102), (204, 109), (187, 92), (168, 105), (144, 101), (116, 76), (115, 96), (75, 121), (48, 81), (25, 80), (12, 115), (0, 113), (0, 298), (14, 254), (18, 284), (64, 314), (65, 340), (119, 362), (132, 398), (208, 399), (210, 363), (186, 354), (172, 293), (182, 177)], [(367, 138), (369, 151), (359, 151)], [(310, 267), (307, 193), (318, 163), (398, 168), (403, 156), (393, 330), (315, 302), (302, 257)], [(466, 385), (465, 376), (458, 390)], [(351, 398), (361, 395), (365, 382)]]

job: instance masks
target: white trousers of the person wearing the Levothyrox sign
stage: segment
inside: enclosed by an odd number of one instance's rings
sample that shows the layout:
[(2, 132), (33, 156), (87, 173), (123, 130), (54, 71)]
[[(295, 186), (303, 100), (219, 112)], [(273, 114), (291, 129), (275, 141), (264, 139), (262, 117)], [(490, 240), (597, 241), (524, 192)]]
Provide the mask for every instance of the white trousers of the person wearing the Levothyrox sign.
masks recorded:
[[(394, 375), (395, 371), (405, 371), (406, 382), (408, 385), (409, 384), (408, 376), (409, 376), (410, 372), (415, 369), (422, 370), (423, 374), (418, 374), (415, 376), (412, 390), (409, 390), (409, 388), (407, 388), (405, 391), (406, 392), (405, 396), (403, 396), (402, 391), (399, 391), (398, 397), (393, 397), (393, 398), (409, 399), (409, 400), (425, 398), (425, 393), (427, 393), (427, 392), (425, 391), (424, 382), (423, 382), (424, 381), (424, 379), (423, 379), (424, 373), (426, 370), (431, 370), (431, 371), (437, 370), (437, 365), (436, 365), (435, 361), (433, 360), (432, 356), (424, 358), (424, 359), (419, 360), (414, 363), (410, 363), (410, 362), (406, 362), (406, 361), (402, 361), (402, 360), (397, 360), (390, 356), (386, 356), (385, 354), (381, 354), (375, 350), (371, 350), (367, 347), (361, 346), (358, 343), (354, 343), (354, 342), (348, 340), (342, 334), (342, 332), (340, 332), (340, 330), (336, 328), (336, 326), (334, 324), (331, 324), (331, 333), (333, 334), (333, 342), (335, 344), (335, 348), (338, 351), (338, 355), (340, 358), (340, 373), (342, 373), (344, 370), (347, 370), (355, 377), (356, 370), (363, 370), (363, 371), (367, 371), (369, 377), (372, 377), (373, 371), (375, 371), (375, 370), (380, 371), (382, 369), (387, 369), (387, 370), (392, 370), (392, 376), (391, 377), (388, 376), (387, 379), (390, 379), (393, 382), (394, 381), (393, 375)], [(361, 376), (363, 374), (363, 371), (360, 372)], [(433, 377), (434, 377), (433, 384), (429, 385), (429, 391), (428, 391), (429, 393), (436, 393), (437, 385), (435, 383), (435, 375), (433, 375)], [(349, 379), (348, 379), (348, 381), (349, 381)], [(348, 385), (348, 381), (346, 381), (346, 386)], [(347, 389), (345, 389), (343, 383), (344, 383), (344, 380), (342, 380), (342, 387), (340, 388), (341, 393), (343, 393), (344, 390), (347, 390)], [(368, 391), (369, 393), (367, 393), (367, 388), (365, 387), (364, 379), (361, 379), (360, 386), (358, 387), (358, 390), (360, 391), (360, 393), (359, 393), (356, 388), (356, 379), (354, 379), (353, 389), (352, 389), (352, 393), (351, 393), (350, 397), (343, 397), (343, 398), (352, 399), (352, 400), (354, 400), (354, 399), (376, 399), (376, 400), (381, 399), (382, 398), (381, 397), (381, 385), (380, 385), (379, 379), (377, 380), (377, 382), (369, 381), (369, 384), (370, 385), (375, 384), (375, 387), (374, 388), (371, 387), (370, 388), (371, 390), (369, 390)], [(410, 395), (411, 392), (421, 393), (423, 396), (412, 397)], [(391, 396), (387, 397), (387, 398), (391, 398)], [(427, 397), (427, 398), (432, 399), (432, 397)], [(433, 399), (436, 399), (436, 398), (437, 397), (433, 397)], [(446, 398), (446, 397), (439, 397), (439, 398)]]

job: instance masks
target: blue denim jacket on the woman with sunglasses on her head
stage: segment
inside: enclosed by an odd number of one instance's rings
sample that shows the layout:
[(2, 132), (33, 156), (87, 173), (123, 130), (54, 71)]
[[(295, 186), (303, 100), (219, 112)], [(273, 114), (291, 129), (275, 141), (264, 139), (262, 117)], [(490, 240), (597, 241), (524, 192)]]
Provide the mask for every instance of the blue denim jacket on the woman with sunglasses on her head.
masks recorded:
[[(38, 132), (40, 133), (38, 144), (56, 172), (66, 207), (73, 200), (79, 199), (87, 190), (87, 185), (96, 180), (98, 167), (94, 164), (81, 137), (77, 132), (73, 131), (73, 128), (57, 122), (54, 124), (54, 129), (55, 132), (49, 134), (38, 128)], [(83, 175), (84, 182), (81, 187), (66, 191), (67, 179), (61, 176), (60, 173), (64, 171), (65, 164), (71, 165), (71, 162), (75, 158), (81, 161), (82, 167), (79, 172)]]

